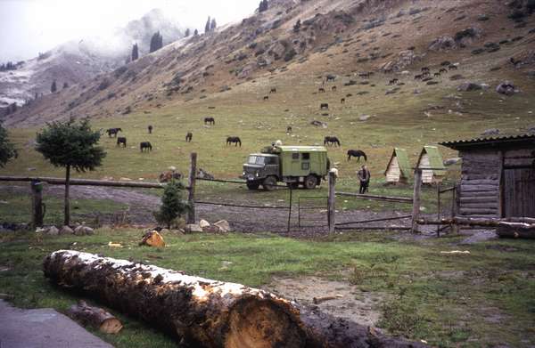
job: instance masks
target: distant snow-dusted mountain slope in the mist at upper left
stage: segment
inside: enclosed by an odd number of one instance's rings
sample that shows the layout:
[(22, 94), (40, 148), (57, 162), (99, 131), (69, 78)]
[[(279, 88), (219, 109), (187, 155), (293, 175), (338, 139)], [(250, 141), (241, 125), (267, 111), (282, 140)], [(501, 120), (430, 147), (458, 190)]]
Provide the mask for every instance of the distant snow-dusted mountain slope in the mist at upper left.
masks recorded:
[(80, 84), (117, 69), (128, 59), (133, 43), (138, 43), (140, 54), (148, 53), (151, 36), (157, 31), (164, 45), (184, 35), (184, 29), (175, 21), (154, 9), (110, 36), (70, 41), (39, 53), (37, 58), (21, 61), (18, 69), (0, 72), (0, 109), (13, 102), (21, 106), (36, 95), (50, 93), (53, 80), (61, 90), (65, 83)]

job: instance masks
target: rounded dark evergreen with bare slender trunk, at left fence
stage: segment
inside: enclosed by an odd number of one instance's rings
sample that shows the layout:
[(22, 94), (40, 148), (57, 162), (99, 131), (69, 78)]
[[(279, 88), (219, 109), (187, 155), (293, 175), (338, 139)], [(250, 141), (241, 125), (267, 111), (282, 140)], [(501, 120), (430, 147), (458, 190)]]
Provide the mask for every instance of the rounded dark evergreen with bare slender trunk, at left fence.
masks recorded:
[(66, 122), (47, 123), (45, 129), (37, 134), (36, 150), (53, 166), (65, 168), (65, 225), (70, 223), (70, 169), (86, 172), (101, 166), (106, 153), (96, 146), (99, 139), (100, 133), (91, 129), (88, 119), (79, 123), (72, 118)]

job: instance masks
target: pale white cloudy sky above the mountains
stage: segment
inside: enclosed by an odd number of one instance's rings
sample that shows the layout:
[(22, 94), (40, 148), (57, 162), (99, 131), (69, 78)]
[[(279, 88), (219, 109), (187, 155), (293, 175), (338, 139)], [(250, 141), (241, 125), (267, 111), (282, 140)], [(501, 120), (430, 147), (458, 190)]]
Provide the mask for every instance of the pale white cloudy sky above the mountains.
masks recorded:
[(221, 26), (256, 7), (256, 0), (2, 0), (0, 61), (27, 60), (66, 41), (110, 36), (153, 8), (180, 27), (202, 31), (208, 16)]

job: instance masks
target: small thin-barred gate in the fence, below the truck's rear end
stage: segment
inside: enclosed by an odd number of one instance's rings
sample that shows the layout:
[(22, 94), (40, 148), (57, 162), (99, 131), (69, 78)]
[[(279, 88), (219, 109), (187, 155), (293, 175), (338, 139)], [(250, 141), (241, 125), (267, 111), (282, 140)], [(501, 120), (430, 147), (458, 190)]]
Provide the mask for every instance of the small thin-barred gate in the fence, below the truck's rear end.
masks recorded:
[(327, 227), (326, 196), (300, 197), (297, 200), (298, 227)]

